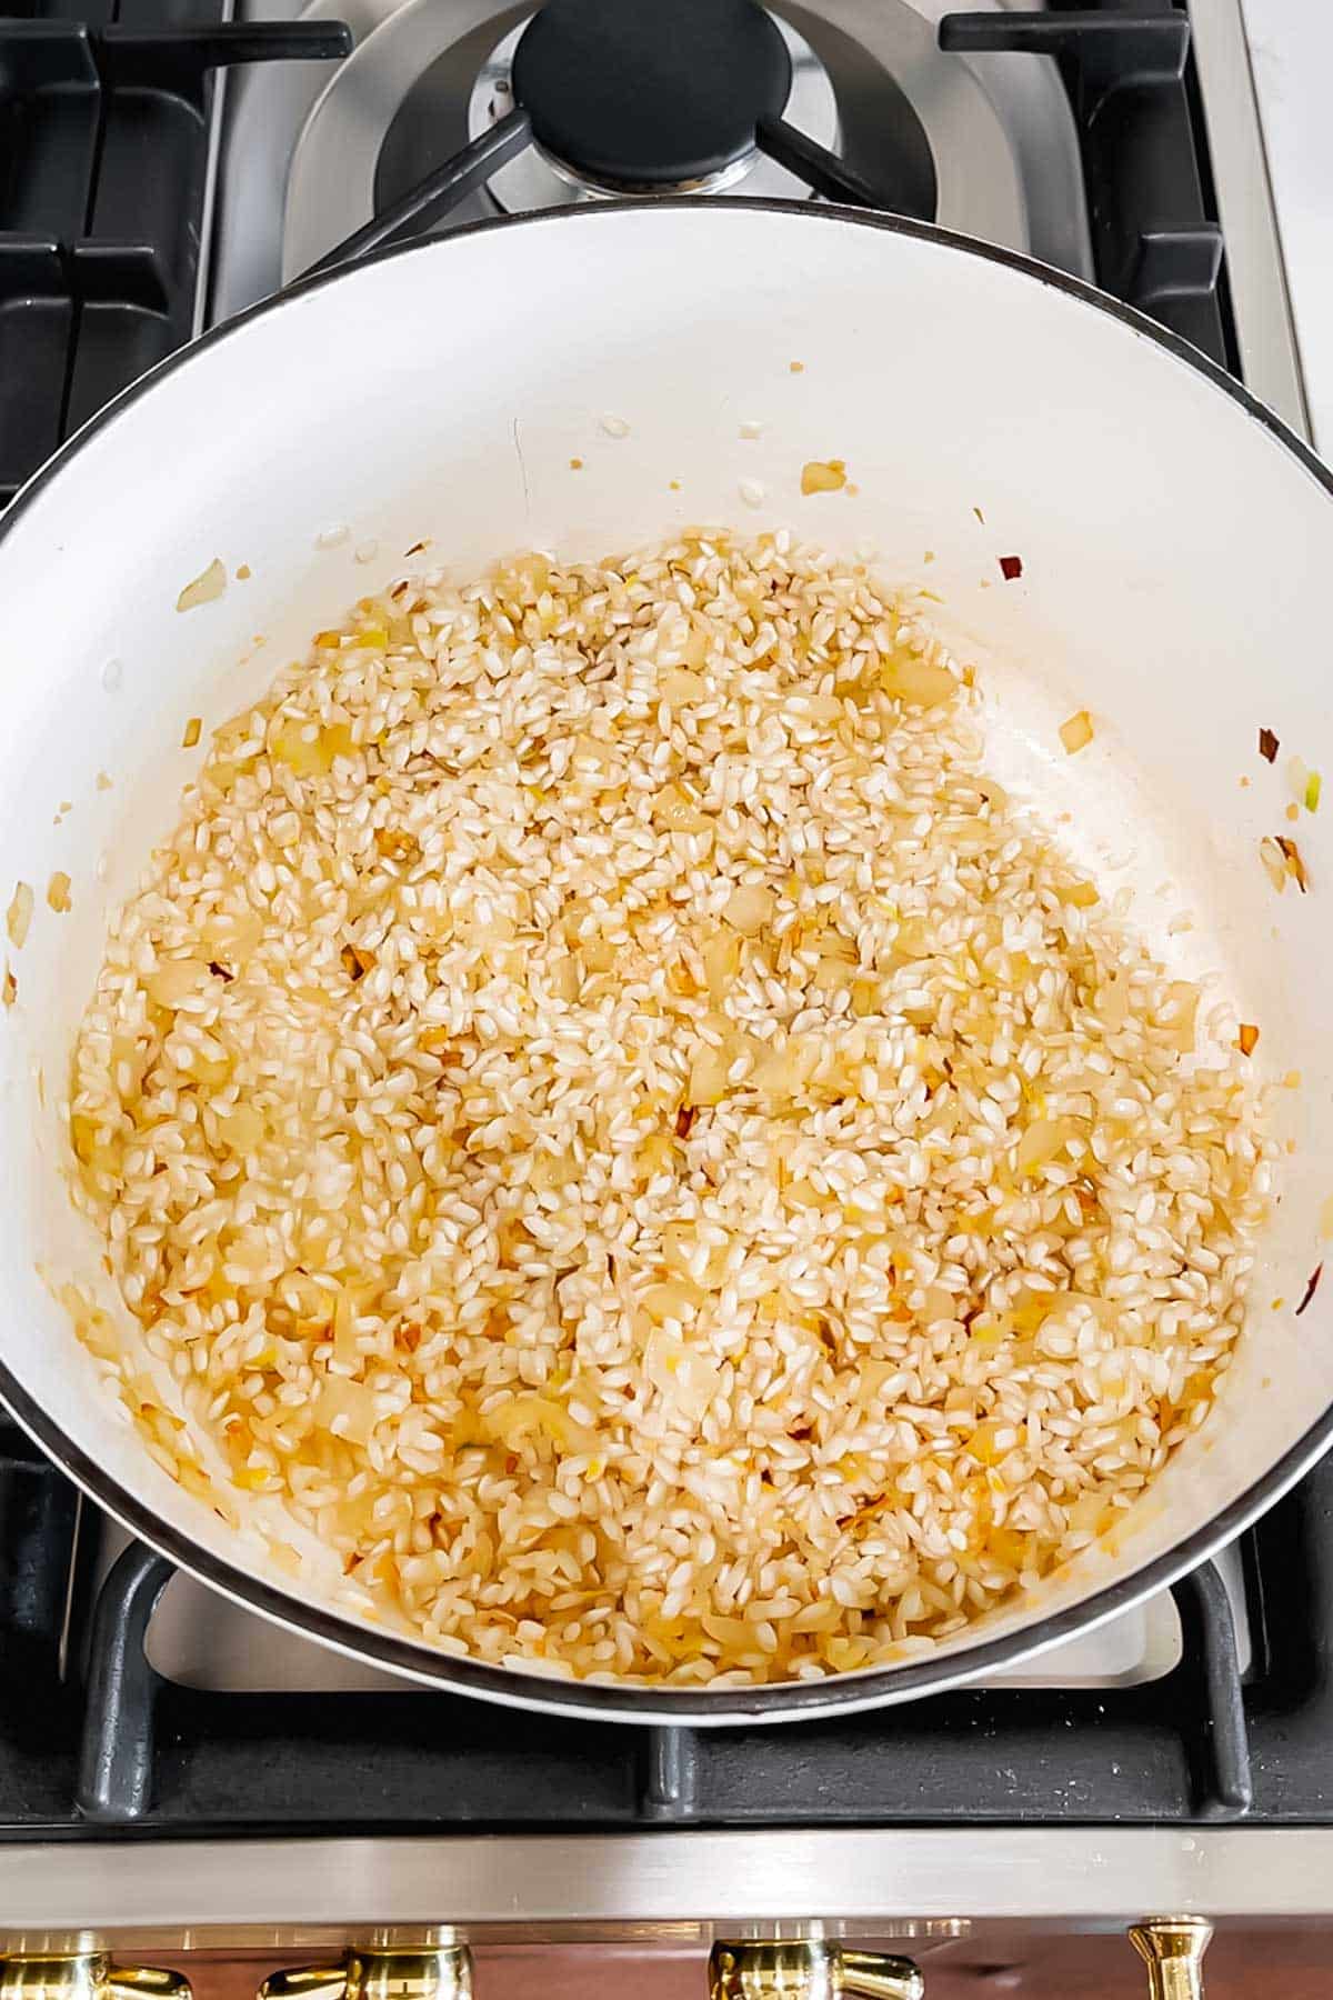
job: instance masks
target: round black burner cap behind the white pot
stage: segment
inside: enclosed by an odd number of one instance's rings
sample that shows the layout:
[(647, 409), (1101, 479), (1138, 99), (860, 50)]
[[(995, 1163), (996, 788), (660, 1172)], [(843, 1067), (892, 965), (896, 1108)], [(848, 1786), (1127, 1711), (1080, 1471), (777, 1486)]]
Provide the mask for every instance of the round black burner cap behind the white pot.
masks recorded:
[(514, 52), (538, 144), (608, 188), (707, 180), (789, 90), (787, 44), (757, 0), (546, 0)]

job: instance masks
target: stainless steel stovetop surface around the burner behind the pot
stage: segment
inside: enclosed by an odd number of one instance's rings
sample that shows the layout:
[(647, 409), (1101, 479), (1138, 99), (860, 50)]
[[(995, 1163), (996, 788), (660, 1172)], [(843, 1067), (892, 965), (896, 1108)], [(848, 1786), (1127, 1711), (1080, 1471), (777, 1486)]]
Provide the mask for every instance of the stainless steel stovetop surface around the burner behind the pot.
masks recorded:
[[(1005, 12), (1001, 0), (985, 4)], [(492, 0), (310, 0), (304, 20), (344, 20), (354, 34), (354, 54), (332, 76), (312, 62), (220, 78), (198, 326), (300, 276), (504, 116), (508, 62), (530, 12)], [(1053, 62), (943, 54), (935, 32), (947, 0), (783, 0), (775, 12), (793, 54), (793, 124), (837, 140), (869, 176), (901, 170), (911, 128), (929, 148), (939, 224), (1093, 276), (1077, 132)], [(240, 0), (238, 16), (282, 20), (290, 10)], [(1193, 0), (1189, 18), (1239, 358), (1255, 394), (1307, 434), (1241, 0)], [(725, 192), (805, 194), (763, 158)], [(446, 228), (570, 198), (584, 196), (526, 156)]]

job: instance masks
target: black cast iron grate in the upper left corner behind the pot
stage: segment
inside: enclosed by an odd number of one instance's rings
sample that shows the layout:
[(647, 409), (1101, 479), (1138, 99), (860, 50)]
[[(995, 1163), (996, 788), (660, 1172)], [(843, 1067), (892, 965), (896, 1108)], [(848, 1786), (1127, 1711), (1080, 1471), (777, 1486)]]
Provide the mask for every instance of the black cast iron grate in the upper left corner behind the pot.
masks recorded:
[(104, 0), (68, 20), (36, 0), (0, 16), (0, 506), (190, 338), (214, 70), (352, 46), (340, 22), (222, 14)]

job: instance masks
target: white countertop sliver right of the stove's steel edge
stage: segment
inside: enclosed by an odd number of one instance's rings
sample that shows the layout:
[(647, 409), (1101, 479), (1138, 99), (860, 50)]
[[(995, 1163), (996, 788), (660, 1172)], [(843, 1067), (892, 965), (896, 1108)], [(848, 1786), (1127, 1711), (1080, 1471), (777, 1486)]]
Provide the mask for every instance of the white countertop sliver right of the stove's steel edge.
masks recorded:
[(1315, 444), (1333, 460), (1333, 4), (1243, 0)]

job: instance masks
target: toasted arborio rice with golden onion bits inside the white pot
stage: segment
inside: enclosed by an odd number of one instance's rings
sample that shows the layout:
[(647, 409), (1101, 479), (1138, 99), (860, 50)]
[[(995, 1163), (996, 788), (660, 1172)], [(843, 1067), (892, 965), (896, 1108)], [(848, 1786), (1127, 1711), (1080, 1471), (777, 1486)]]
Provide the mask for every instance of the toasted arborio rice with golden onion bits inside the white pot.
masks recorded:
[(983, 774), (969, 678), (861, 566), (689, 534), (400, 582), (214, 736), (82, 1024), (78, 1200), (380, 1618), (859, 1668), (1205, 1416), (1249, 1066)]

